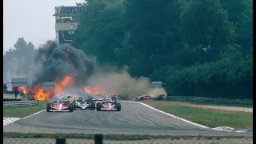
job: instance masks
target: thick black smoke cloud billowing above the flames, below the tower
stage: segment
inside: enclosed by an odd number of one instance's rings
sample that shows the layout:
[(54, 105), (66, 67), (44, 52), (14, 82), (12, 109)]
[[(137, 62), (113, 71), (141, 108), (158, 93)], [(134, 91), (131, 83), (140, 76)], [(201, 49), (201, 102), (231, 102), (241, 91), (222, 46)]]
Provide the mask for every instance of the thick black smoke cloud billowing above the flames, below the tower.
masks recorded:
[(34, 85), (58, 81), (66, 75), (75, 80), (76, 86), (86, 85), (94, 74), (95, 62), (86, 57), (82, 50), (57, 42), (48, 41), (38, 48), (34, 63), (39, 66), (34, 75)]

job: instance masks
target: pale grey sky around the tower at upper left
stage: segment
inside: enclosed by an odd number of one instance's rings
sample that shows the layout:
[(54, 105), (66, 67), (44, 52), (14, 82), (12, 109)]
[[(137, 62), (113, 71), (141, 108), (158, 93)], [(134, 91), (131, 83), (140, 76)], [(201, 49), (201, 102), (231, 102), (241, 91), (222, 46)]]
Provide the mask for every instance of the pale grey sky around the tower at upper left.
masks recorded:
[(25, 38), (37, 48), (55, 38), (54, 7), (84, 0), (3, 0), (3, 51)]

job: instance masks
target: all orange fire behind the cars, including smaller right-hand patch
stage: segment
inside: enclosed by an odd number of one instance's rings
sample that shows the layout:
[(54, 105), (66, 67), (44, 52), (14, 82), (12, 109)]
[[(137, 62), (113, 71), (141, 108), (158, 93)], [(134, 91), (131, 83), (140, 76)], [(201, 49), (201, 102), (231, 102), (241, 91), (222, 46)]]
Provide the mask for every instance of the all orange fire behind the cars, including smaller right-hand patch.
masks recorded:
[[(66, 75), (64, 78), (62, 78), (61, 81), (55, 82), (54, 88), (50, 90), (44, 90), (42, 89), (41, 84), (38, 84), (38, 86), (34, 86), (34, 88), (31, 90), (31, 93), (33, 94), (33, 97), (37, 99), (38, 101), (46, 101), (49, 100), (54, 94), (63, 94), (64, 90), (72, 86), (74, 84), (74, 78), (70, 77), (69, 75)], [(25, 94), (28, 94), (28, 90), (26, 87), (23, 87), (23, 91)], [(94, 85), (94, 86), (85, 86), (84, 87), (84, 93), (85, 94), (103, 94), (103, 90), (100, 86)]]

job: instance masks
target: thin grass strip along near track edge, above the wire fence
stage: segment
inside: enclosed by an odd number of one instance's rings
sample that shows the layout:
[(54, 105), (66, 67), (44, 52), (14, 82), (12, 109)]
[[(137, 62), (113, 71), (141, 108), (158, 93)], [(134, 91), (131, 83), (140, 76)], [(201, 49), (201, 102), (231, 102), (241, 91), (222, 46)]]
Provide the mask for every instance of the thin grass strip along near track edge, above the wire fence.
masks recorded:
[[(3, 138), (84, 138), (94, 139), (95, 134), (39, 134), (39, 133), (3, 133)], [(138, 141), (150, 139), (219, 139), (219, 138), (245, 138), (241, 136), (174, 136), (174, 135), (146, 135), (146, 134), (103, 134), (104, 140), (112, 141)], [(246, 137), (248, 138), (248, 137)]]

